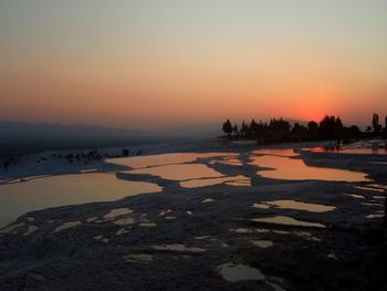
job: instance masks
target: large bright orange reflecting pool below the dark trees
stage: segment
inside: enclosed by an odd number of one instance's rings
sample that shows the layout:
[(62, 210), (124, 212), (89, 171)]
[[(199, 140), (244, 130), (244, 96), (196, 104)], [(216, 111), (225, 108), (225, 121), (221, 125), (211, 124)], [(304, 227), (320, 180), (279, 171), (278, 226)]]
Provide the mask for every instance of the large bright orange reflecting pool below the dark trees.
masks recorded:
[(337, 181), (367, 181), (365, 174), (344, 169), (321, 168), (307, 166), (302, 159), (280, 156), (253, 157), (251, 165), (274, 168), (260, 170), (259, 175), (266, 178), (289, 180), (337, 180)]

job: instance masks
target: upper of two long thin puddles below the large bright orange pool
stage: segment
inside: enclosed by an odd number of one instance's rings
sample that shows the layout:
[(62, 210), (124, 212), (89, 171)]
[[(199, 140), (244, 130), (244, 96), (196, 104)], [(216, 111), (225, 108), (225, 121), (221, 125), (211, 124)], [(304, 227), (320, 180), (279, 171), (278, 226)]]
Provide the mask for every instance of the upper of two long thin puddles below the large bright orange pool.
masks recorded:
[(252, 207), (254, 208), (263, 208), (265, 209), (265, 206), (268, 207), (275, 207), (281, 209), (296, 209), (296, 210), (306, 210), (310, 212), (326, 212), (332, 211), (336, 209), (334, 206), (327, 206), (327, 205), (318, 205), (318, 204), (306, 204), (306, 202), (299, 202), (295, 200), (274, 200), (274, 201), (264, 201), (261, 204), (254, 204)]

